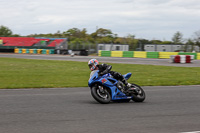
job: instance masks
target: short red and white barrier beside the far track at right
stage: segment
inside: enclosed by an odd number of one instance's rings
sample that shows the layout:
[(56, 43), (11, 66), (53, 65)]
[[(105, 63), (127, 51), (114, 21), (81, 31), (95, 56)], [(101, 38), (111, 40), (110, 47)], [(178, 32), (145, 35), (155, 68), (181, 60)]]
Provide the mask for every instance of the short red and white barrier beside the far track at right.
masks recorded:
[(191, 63), (194, 55), (171, 55), (172, 63)]

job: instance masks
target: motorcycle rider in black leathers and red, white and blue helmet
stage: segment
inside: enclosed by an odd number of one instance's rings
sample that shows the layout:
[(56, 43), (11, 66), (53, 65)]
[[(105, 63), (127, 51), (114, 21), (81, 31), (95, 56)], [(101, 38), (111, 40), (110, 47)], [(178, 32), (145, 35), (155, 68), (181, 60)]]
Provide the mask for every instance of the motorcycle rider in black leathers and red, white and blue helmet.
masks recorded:
[(88, 61), (88, 66), (89, 66), (91, 71), (99, 70), (99, 76), (110, 73), (113, 76), (113, 78), (122, 81), (123, 84), (125, 85), (125, 88), (128, 89), (128, 88), (131, 87), (131, 84), (126, 81), (126, 79), (122, 76), (121, 73), (111, 71), (111, 69), (112, 69), (111, 65), (99, 64), (97, 59), (91, 59), (91, 60)]

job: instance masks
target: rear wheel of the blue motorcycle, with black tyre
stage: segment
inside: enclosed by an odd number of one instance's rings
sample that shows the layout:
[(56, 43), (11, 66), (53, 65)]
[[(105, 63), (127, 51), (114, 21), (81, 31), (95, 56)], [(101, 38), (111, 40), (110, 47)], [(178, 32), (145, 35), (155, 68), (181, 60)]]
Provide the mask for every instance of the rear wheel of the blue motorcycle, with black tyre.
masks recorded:
[(143, 102), (146, 98), (144, 90), (136, 84), (132, 84), (131, 88), (133, 88), (135, 91), (131, 94), (133, 96), (132, 100), (134, 102)]

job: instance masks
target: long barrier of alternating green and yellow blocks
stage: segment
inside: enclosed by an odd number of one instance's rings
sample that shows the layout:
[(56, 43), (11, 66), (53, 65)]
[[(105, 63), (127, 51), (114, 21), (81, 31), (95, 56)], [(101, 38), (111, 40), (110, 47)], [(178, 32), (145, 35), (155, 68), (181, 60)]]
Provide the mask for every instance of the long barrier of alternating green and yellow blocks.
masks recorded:
[(144, 51), (99, 51), (102, 57), (134, 57), (134, 58), (162, 58), (169, 59), (171, 55), (194, 55), (194, 59), (200, 60), (200, 53), (190, 52), (144, 52)]

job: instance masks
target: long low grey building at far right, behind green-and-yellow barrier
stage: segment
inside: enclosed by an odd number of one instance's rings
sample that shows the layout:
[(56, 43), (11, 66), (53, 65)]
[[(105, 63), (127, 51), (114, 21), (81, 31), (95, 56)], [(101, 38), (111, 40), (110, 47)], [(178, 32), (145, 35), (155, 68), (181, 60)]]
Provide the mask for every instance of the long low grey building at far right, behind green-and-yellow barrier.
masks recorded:
[(192, 45), (184, 45), (184, 44), (145, 44), (145, 51), (159, 51), (159, 52), (177, 52), (177, 51), (186, 51), (186, 52), (199, 52), (199, 47)]

